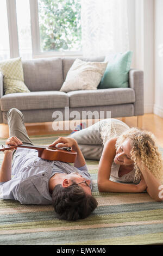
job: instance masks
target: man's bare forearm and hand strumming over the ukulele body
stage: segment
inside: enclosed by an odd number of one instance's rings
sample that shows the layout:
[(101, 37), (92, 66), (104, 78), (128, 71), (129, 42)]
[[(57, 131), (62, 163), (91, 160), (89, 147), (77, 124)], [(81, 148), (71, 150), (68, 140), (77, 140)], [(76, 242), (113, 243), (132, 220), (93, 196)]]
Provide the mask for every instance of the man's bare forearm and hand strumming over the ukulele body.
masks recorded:
[(82, 154), (82, 151), (79, 149), (78, 143), (75, 139), (73, 138), (65, 138), (65, 137), (59, 137), (56, 139), (56, 141), (53, 142), (53, 144), (49, 145), (49, 147), (55, 147), (55, 145), (59, 144), (57, 147), (62, 148), (62, 147), (71, 147), (72, 150), (77, 152), (77, 158), (76, 161), (74, 162), (74, 167), (82, 167), (86, 164), (84, 156)]

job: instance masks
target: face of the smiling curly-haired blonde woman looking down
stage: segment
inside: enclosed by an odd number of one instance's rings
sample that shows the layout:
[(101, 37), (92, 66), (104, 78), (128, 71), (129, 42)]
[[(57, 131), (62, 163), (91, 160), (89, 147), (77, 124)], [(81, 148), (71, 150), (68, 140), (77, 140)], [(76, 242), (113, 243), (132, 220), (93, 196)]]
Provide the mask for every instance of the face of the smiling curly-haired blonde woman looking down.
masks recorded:
[(117, 148), (114, 162), (116, 164), (125, 165), (125, 166), (130, 166), (131, 164), (133, 164), (134, 161), (131, 160), (130, 151), (131, 151), (130, 140), (126, 139), (120, 145), (120, 147)]

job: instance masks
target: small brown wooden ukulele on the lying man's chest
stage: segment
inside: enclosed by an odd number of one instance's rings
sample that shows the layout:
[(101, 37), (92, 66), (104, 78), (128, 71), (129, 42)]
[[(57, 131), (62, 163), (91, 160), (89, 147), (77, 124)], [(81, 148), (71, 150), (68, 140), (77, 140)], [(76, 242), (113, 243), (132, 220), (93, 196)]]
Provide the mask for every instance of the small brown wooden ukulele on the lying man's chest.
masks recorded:
[(27, 149), (35, 149), (38, 151), (38, 156), (41, 159), (48, 161), (61, 161), (67, 163), (74, 163), (76, 161), (77, 152), (71, 150), (70, 148), (57, 148), (57, 147), (46, 147), (40, 145), (7, 145), (1, 146), (0, 151), (14, 149), (14, 148), (27, 148)]

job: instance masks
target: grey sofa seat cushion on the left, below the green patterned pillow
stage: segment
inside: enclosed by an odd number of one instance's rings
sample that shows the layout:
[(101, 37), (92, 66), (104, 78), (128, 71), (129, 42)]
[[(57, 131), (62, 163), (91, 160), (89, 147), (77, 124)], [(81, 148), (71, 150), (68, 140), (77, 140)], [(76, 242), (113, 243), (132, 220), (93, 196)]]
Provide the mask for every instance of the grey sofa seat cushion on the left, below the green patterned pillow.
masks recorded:
[(59, 91), (12, 93), (1, 98), (2, 111), (8, 111), (12, 107), (23, 110), (64, 108), (65, 106), (69, 106), (68, 96)]

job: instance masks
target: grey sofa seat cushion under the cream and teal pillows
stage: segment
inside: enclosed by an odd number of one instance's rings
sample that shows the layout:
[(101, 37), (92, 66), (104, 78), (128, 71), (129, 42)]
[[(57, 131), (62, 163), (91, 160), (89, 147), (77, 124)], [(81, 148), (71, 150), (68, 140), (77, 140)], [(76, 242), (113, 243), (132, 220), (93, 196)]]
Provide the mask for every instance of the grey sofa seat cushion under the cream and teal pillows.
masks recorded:
[(98, 90), (78, 90), (69, 92), (70, 107), (108, 106), (135, 102), (131, 88), (110, 88)]

